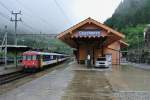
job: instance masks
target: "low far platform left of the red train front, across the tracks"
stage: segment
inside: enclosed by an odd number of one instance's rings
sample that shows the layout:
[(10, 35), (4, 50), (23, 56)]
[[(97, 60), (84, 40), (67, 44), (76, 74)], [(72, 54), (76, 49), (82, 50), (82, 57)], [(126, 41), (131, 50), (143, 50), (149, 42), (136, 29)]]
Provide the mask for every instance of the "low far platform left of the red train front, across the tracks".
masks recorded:
[(16, 67), (14, 64), (7, 65), (6, 69), (5, 69), (5, 65), (1, 65), (0, 66), (0, 75), (13, 73), (13, 72), (17, 72), (17, 71), (20, 71), (20, 70), (22, 70), (21, 64), (19, 64), (18, 67)]

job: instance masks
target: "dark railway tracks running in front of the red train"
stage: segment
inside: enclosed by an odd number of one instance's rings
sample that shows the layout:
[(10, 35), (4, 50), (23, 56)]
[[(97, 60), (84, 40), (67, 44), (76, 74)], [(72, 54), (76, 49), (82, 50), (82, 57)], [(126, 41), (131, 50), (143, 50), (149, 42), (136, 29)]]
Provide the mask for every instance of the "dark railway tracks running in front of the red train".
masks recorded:
[(28, 75), (29, 73), (24, 73), (23, 71), (18, 71), (18, 72), (6, 74), (6, 75), (0, 75), (0, 85), (12, 82), (14, 80), (23, 78)]

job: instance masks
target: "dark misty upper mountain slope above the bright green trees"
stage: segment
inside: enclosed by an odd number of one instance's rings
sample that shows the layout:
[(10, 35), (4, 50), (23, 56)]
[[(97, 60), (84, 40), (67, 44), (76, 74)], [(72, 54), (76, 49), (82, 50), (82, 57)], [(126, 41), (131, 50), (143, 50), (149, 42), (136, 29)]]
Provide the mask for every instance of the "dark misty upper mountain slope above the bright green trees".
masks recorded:
[(127, 26), (150, 23), (150, 0), (124, 0), (105, 24), (121, 30)]

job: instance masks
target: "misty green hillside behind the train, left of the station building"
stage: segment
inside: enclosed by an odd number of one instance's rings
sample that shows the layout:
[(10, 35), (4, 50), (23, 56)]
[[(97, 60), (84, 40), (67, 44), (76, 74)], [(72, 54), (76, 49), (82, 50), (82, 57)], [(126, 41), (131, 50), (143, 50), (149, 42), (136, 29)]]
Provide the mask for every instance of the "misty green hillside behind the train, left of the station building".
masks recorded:
[[(8, 45), (14, 44), (14, 35), (13, 32), (8, 33)], [(4, 32), (0, 33), (0, 40), (3, 40)], [(72, 49), (61, 42), (56, 38), (50, 38), (46, 36), (18, 36), (18, 45), (25, 45), (33, 48), (38, 51), (46, 51), (46, 52), (58, 52), (65, 54), (72, 54)], [(1, 45), (2, 41), (0, 41)], [(3, 54), (3, 53), (2, 53)], [(0, 53), (1, 55), (1, 53)]]

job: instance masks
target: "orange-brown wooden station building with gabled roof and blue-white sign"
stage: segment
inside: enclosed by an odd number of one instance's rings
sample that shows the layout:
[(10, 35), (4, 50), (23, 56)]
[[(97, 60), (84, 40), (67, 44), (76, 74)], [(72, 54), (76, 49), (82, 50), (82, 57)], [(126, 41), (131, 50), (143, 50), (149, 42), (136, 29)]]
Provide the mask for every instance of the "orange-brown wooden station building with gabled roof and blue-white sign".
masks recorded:
[(127, 47), (125, 35), (92, 19), (74, 25), (57, 36), (58, 39), (74, 48), (78, 63), (84, 64), (90, 55), (92, 64), (99, 57), (111, 56), (112, 64), (120, 64), (121, 48)]

